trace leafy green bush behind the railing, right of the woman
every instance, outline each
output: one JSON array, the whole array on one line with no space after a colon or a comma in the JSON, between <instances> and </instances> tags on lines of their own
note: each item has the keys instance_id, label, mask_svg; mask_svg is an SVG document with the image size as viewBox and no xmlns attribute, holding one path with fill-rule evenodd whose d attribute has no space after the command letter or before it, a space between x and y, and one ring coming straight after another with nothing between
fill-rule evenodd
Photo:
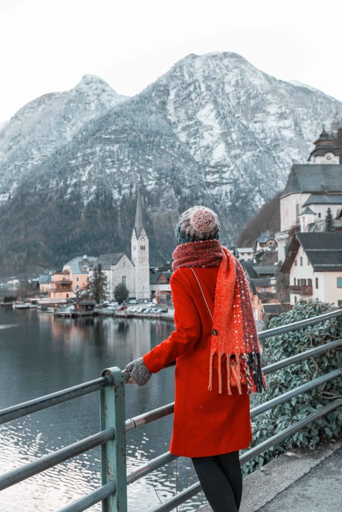
<instances>
[{"instance_id":1,"label":"leafy green bush behind the railing, right of the woman","mask_svg":"<svg viewBox=\"0 0 342 512\"><path fill-rule=\"evenodd\" d=\"M301 299L291 311L272 318L269 328L298 322L334 309L337 308L329 303L315 299ZM342 337L342 318L332 318L313 326L268 338L264 346L263 358L265 364L269 365L340 337ZM266 376L267 392L252 395L251 407L255 407L261 402L270 400L341 366L342 350L338 347L269 374ZM277 432L284 430L290 424L324 407L341 394L342 378L339 376L307 393L280 404L266 413L260 414L252 420L253 441L251 446L259 444ZM314 446L319 441L326 441L340 434L342 434L342 411L336 409L305 426L281 444L274 445L254 460L246 463L244 471L250 473L257 466L266 464L274 457L295 446Z\"/></svg>"}]
</instances>

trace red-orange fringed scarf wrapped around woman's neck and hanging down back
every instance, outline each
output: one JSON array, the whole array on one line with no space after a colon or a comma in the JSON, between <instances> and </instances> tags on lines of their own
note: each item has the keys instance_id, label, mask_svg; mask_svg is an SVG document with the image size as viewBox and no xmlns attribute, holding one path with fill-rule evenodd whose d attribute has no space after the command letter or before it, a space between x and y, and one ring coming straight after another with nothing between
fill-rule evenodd
<instances>
[{"instance_id":1,"label":"red-orange fringed scarf wrapped around woman's neck and hanging down back","mask_svg":"<svg viewBox=\"0 0 342 512\"><path fill-rule=\"evenodd\" d=\"M223 251L223 252L222 252ZM267 389L261 370L259 341L250 299L250 289L244 269L234 255L218 240L179 244L172 257L173 270L180 267L218 266L213 330L209 361L209 386L212 391L213 358L218 357L218 391L222 393L222 357L227 367L227 389L230 385L230 357L235 355L236 368L246 369L248 392L261 393ZM238 392L242 393L238 379Z\"/></svg>"}]
</instances>

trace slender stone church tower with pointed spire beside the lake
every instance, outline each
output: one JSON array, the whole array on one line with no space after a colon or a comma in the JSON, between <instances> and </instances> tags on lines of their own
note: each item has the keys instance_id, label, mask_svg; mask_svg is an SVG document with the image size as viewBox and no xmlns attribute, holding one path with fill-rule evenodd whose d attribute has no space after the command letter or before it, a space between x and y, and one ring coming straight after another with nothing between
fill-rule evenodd
<instances>
[{"instance_id":1,"label":"slender stone church tower with pointed spire beside the lake","mask_svg":"<svg viewBox=\"0 0 342 512\"><path fill-rule=\"evenodd\" d=\"M140 176L138 176L135 222L131 238L131 260L134 264L135 296L150 298L149 240L143 226L143 207Z\"/></svg>"}]
</instances>

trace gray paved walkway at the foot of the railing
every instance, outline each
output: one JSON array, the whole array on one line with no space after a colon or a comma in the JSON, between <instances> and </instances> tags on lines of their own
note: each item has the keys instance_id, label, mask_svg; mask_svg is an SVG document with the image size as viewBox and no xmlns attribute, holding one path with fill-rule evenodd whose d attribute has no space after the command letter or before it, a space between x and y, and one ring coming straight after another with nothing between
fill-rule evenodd
<instances>
[{"instance_id":1,"label":"gray paved walkway at the foot of the railing","mask_svg":"<svg viewBox=\"0 0 342 512\"><path fill-rule=\"evenodd\" d=\"M341 510L342 438L287 452L244 480L240 512ZM209 505L199 511L212 512Z\"/></svg>"}]
</instances>

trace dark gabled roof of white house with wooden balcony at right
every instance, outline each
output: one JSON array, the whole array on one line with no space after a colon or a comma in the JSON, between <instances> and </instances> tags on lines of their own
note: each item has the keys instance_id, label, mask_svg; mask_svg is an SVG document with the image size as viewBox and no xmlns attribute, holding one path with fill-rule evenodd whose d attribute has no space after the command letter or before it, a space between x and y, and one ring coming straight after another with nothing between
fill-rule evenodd
<instances>
[{"instance_id":1,"label":"dark gabled roof of white house with wooden balcony at right","mask_svg":"<svg viewBox=\"0 0 342 512\"><path fill-rule=\"evenodd\" d=\"M342 271L342 231L295 233L283 269L289 272L299 244L315 272Z\"/></svg>"}]
</instances>

